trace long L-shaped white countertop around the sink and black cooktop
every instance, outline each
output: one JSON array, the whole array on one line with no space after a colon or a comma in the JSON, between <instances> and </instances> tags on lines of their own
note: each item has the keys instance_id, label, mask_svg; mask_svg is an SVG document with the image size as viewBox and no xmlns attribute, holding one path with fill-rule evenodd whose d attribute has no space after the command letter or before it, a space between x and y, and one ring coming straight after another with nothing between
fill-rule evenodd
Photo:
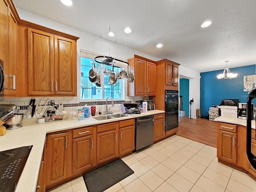
<instances>
[{"instance_id":1,"label":"long L-shaped white countertop around the sink and black cooktop","mask_svg":"<svg viewBox=\"0 0 256 192\"><path fill-rule=\"evenodd\" d=\"M54 122L45 122L42 124L37 124L36 118L24 119L22 121L22 128L7 130L7 133L4 136L0 136L0 151L18 148L21 146L33 145L15 192L34 192L36 190L37 178L40 169L42 153L44 150L46 133L68 130L82 126L90 126L95 124L126 120L130 118L154 115L159 113L164 113L164 111L149 110L147 113L143 114L128 115L126 117L100 121L90 116L89 118L85 118L84 121L69 119Z\"/></svg>"}]
</instances>

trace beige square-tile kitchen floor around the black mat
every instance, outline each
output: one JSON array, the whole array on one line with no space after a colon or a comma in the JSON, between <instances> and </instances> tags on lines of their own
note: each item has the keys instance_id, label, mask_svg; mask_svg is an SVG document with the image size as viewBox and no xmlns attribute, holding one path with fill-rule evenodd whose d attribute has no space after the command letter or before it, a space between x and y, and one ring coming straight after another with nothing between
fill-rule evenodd
<instances>
[{"instance_id":1,"label":"beige square-tile kitchen floor around the black mat","mask_svg":"<svg viewBox=\"0 0 256 192\"><path fill-rule=\"evenodd\" d=\"M218 163L216 148L172 136L122 160L134 174L106 192L256 192L256 181ZM51 192L87 192L82 177Z\"/></svg>"}]
</instances>

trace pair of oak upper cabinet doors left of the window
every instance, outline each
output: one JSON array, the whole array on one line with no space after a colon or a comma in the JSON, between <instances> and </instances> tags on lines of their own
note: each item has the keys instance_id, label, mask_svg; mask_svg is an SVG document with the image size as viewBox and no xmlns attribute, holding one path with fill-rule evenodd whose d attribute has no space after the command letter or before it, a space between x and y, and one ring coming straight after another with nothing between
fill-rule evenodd
<instances>
[{"instance_id":1,"label":"pair of oak upper cabinet doors left of the window","mask_svg":"<svg viewBox=\"0 0 256 192\"><path fill-rule=\"evenodd\" d=\"M28 94L76 96L76 42L28 28Z\"/></svg>"}]
</instances>

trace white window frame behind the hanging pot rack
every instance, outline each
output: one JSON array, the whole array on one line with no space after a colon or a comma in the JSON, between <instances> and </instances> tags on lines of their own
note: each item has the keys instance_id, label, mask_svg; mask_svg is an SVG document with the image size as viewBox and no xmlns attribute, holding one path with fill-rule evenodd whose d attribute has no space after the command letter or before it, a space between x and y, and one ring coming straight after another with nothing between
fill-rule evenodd
<instances>
[{"instance_id":1,"label":"white window frame behind the hanging pot rack","mask_svg":"<svg viewBox=\"0 0 256 192\"><path fill-rule=\"evenodd\" d=\"M81 70L81 66L82 66L81 58L89 58L89 59L93 59L94 60L94 58L96 56L105 56L105 55L80 49L80 55L79 55L79 58L80 58L80 68L79 68L80 84L79 85L82 84L81 83L81 75L80 75L81 72L82 72L82 70ZM104 70L104 68L105 68L105 65L102 65L102 70ZM105 78L106 78L106 76L104 75L104 79ZM94 83L92 83L92 85L94 85ZM79 90L80 90L80 92L79 92L80 93L79 94L79 100L80 100L80 102L105 101L106 99L104 99L104 96L105 96L105 91L107 90L107 89L105 89L105 84L103 84L103 86L101 88L102 88L102 94L101 94L102 98L99 98L99 99L92 99L92 98L86 99L86 98L83 98L82 99L81 98L82 90L81 90L81 87L79 86ZM124 100L125 99L125 80L124 79L120 80L120 90L121 90L121 93L122 93L121 98L113 98L113 100L118 101L118 100Z\"/></svg>"}]
</instances>

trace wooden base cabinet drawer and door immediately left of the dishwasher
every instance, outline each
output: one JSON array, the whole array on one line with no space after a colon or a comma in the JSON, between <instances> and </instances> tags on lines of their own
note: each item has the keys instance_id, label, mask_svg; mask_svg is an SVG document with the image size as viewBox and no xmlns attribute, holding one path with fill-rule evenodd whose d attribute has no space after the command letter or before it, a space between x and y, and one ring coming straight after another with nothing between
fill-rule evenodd
<instances>
[{"instance_id":1,"label":"wooden base cabinet drawer and door immediately left of the dishwasher","mask_svg":"<svg viewBox=\"0 0 256 192\"><path fill-rule=\"evenodd\" d=\"M135 144L134 119L119 122L119 156L132 152Z\"/></svg>"}]
</instances>

